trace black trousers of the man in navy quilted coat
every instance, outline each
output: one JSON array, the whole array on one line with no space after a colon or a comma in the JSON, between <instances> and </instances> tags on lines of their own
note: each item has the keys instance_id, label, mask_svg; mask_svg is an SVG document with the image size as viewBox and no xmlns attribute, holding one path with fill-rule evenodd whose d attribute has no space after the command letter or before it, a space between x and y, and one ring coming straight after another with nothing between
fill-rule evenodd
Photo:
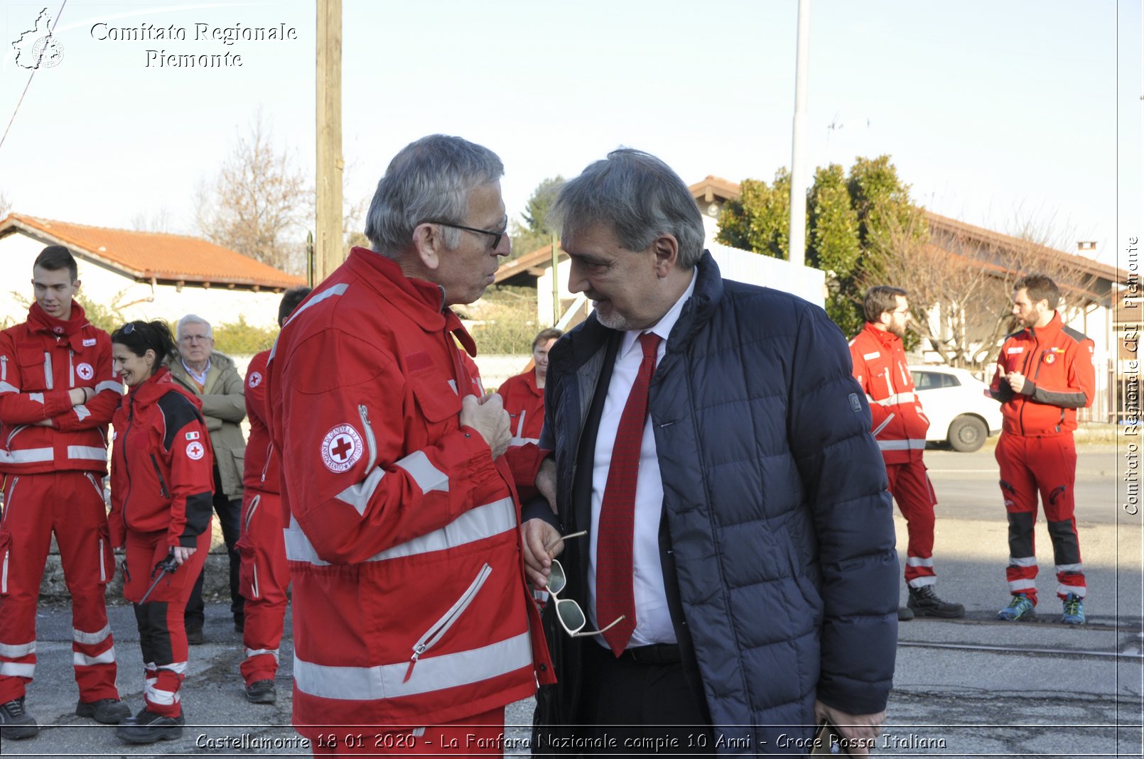
<instances>
[{"instance_id":1,"label":"black trousers of the man in navy quilted coat","mask_svg":"<svg viewBox=\"0 0 1144 759\"><path fill-rule=\"evenodd\" d=\"M617 658L587 640L580 693L579 721L593 746L586 753L678 757L715 752L713 730L677 661L635 661L628 653Z\"/></svg>"}]
</instances>

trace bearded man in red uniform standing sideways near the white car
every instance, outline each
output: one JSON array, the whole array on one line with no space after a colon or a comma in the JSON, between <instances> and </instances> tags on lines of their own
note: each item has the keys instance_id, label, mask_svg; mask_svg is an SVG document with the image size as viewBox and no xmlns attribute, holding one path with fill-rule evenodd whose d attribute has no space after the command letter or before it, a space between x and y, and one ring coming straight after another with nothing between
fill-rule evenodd
<instances>
[{"instance_id":1,"label":"bearded man in red uniform standing sideways near the white car","mask_svg":"<svg viewBox=\"0 0 1144 759\"><path fill-rule=\"evenodd\" d=\"M929 420L914 391L914 378L906 366L901 338L909 322L906 290L898 287L872 287L866 290L863 310L866 326L850 341L850 358L858 384L866 391L874 438L885 461L890 493L906 519L909 543L906 549L906 585L909 600L898 609L899 620L917 616L960 617L961 604L938 598L934 585L934 485L925 472L922 452Z\"/></svg>"}]
</instances>

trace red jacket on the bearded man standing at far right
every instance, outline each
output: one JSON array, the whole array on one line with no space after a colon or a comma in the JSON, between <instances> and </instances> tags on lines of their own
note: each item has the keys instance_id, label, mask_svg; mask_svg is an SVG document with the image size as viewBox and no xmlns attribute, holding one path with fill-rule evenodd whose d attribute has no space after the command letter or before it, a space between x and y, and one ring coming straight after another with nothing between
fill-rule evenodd
<instances>
[{"instance_id":1,"label":"red jacket on the bearded man standing at far right","mask_svg":"<svg viewBox=\"0 0 1144 759\"><path fill-rule=\"evenodd\" d=\"M1065 327L1060 314L1044 327L1030 327L1009 335L998 355L990 385L1001 401L1002 431L1010 434L1050 437L1077 429L1077 409L1093 404L1096 371L1093 341ZM1015 393L1004 378L1010 371L1025 376Z\"/></svg>"}]
</instances>

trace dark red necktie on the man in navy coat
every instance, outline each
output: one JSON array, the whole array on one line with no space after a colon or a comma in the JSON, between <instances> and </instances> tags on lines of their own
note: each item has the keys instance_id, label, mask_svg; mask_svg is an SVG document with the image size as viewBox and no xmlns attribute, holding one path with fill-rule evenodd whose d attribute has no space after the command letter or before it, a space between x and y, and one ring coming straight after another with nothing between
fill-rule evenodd
<instances>
[{"instance_id":1,"label":"dark red necktie on the man in navy coat","mask_svg":"<svg viewBox=\"0 0 1144 759\"><path fill-rule=\"evenodd\" d=\"M636 478L639 449L648 421L648 386L656 371L659 335L644 333L639 344L644 355L620 416L612 447L612 464L599 505L599 533L596 545L596 623L606 626L621 615L623 621L604 631L604 640L619 656L636 629L636 602L631 589L631 543L636 510Z\"/></svg>"}]
</instances>

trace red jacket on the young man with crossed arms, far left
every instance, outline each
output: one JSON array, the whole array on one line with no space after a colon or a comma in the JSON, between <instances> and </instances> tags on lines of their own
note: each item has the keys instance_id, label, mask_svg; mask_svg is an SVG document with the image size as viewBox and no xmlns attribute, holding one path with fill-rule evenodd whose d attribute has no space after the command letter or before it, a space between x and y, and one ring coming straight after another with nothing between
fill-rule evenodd
<instances>
[{"instance_id":1,"label":"red jacket on the young man with crossed arms, far left","mask_svg":"<svg viewBox=\"0 0 1144 759\"><path fill-rule=\"evenodd\" d=\"M69 391L95 397L72 406ZM27 321L0 331L0 473L108 471L108 423L124 383L111 369L111 338L72 301L69 321L33 303ZM50 420L50 426L37 424Z\"/></svg>"}]
</instances>

